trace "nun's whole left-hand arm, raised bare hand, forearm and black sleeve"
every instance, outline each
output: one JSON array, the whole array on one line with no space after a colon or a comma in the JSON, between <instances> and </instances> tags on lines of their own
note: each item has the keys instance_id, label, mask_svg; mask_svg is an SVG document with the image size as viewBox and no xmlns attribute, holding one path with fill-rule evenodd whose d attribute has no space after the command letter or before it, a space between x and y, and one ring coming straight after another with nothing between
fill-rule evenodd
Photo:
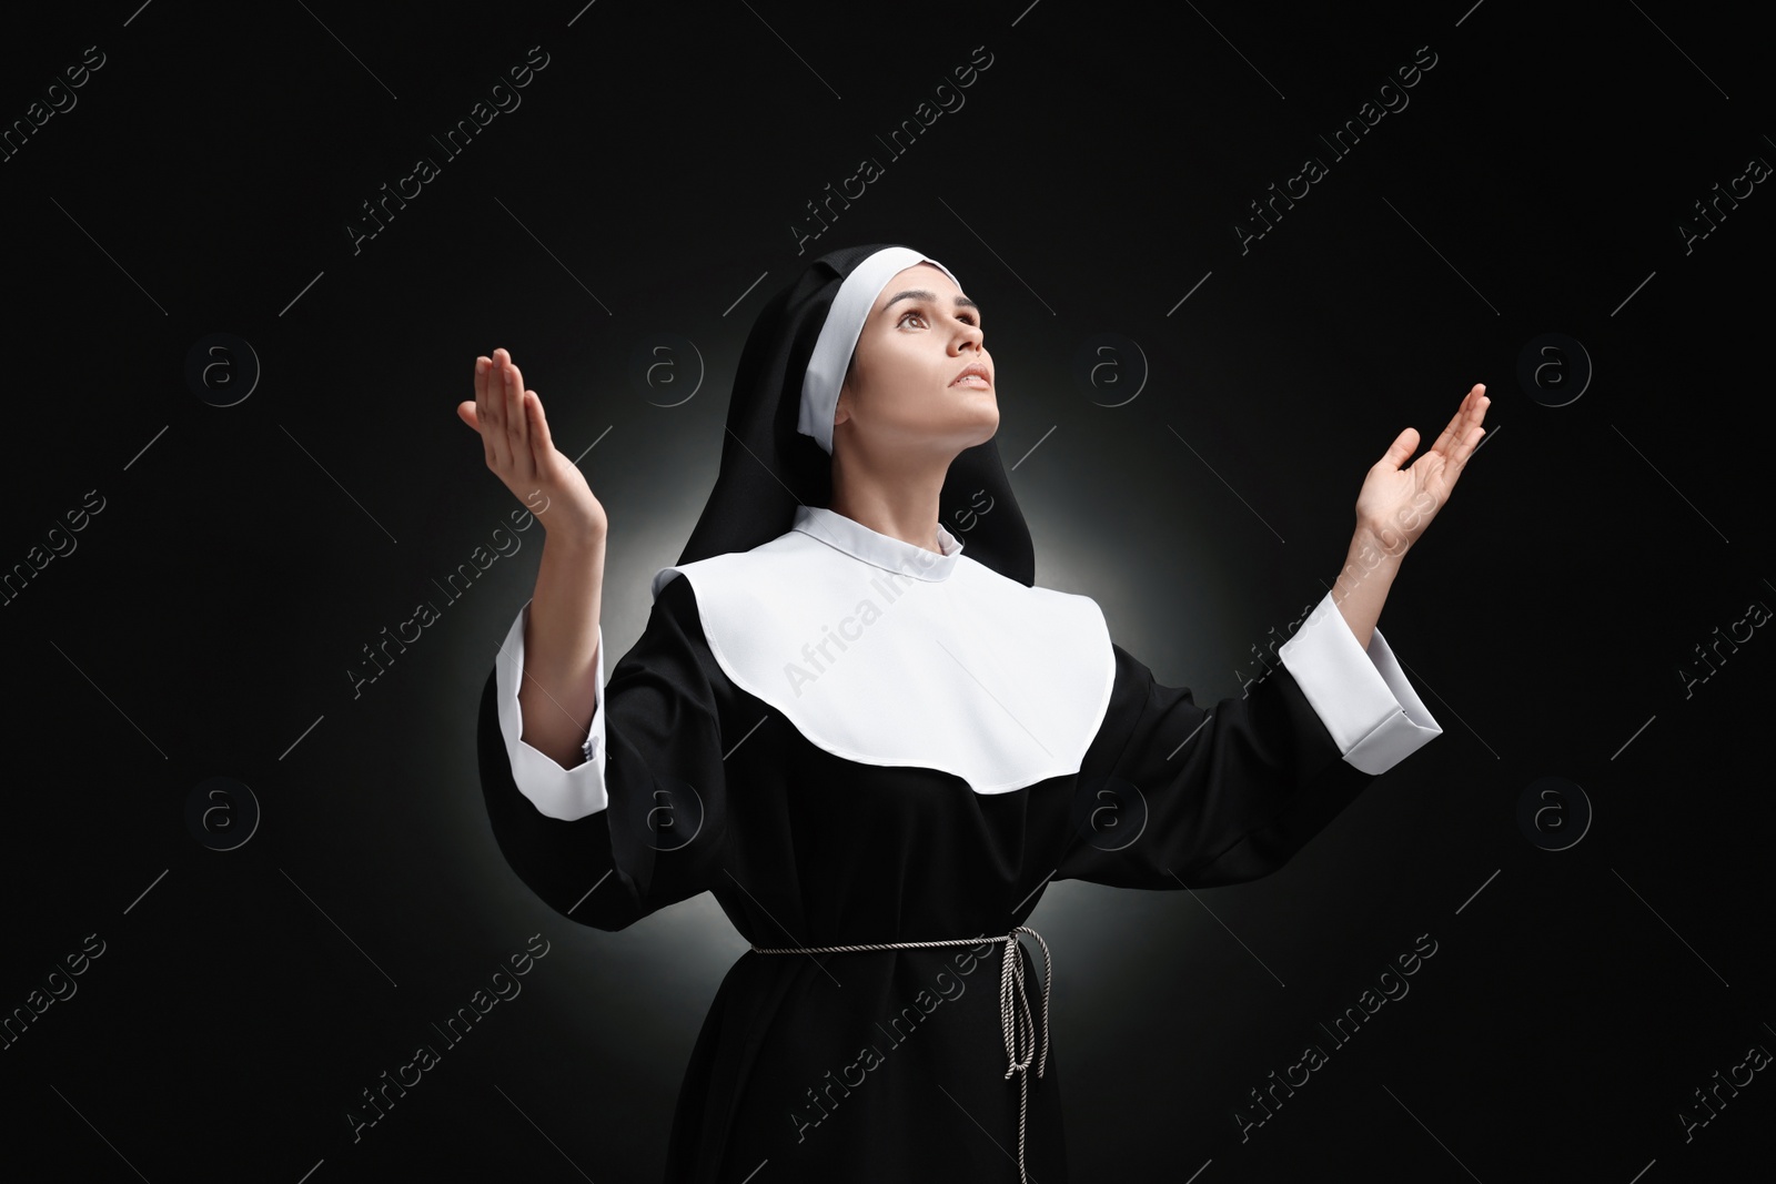
<instances>
[{"instance_id":1,"label":"nun's whole left-hand arm, raised bare hand, forearm and black sleeve","mask_svg":"<svg viewBox=\"0 0 1776 1184\"><path fill-rule=\"evenodd\" d=\"M678 579L606 687L604 508L551 444L542 399L504 350L476 359L474 401L456 414L543 524L536 595L506 630L476 724L494 840L551 909L618 930L709 889L726 866L721 671Z\"/></svg>"}]
</instances>

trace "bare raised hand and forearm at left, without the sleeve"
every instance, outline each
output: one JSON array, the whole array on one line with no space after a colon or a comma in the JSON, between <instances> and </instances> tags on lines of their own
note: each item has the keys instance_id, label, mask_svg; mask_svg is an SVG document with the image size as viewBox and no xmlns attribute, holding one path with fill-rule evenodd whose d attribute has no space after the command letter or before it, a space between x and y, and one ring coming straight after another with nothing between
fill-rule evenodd
<instances>
[{"instance_id":1,"label":"bare raised hand and forearm at left, without the sleeve","mask_svg":"<svg viewBox=\"0 0 1776 1184\"><path fill-rule=\"evenodd\" d=\"M474 360L474 401L456 414L481 435L487 467L543 524L536 593L526 607L524 742L563 769L584 762L597 710L604 506L549 435L543 403L506 350Z\"/></svg>"}]
</instances>

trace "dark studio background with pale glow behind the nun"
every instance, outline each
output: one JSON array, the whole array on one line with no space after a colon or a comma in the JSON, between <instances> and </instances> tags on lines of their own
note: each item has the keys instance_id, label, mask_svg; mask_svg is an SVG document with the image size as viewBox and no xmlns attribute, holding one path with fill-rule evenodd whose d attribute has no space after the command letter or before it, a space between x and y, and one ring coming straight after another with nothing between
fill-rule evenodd
<instances>
[{"instance_id":1,"label":"dark studio background with pale glow behind the nun","mask_svg":"<svg viewBox=\"0 0 1776 1184\"><path fill-rule=\"evenodd\" d=\"M1265 880L1064 882L1032 916L1073 1179L1653 1184L1767 1161L1769 1072L1691 1138L1678 1117L1776 1047L1776 641L1684 675L1776 604L1776 197L1756 185L1687 250L1678 229L1776 160L1748 11L44 7L5 18L7 126L87 46L105 64L0 163L0 566L78 543L0 604L0 1008L89 934L105 953L0 1051L9 1159L659 1177L744 943L709 896L574 925L499 857L472 722L542 533L460 602L433 593L517 508L453 408L510 348L609 511L620 655L709 493L751 318L812 254L904 241L984 309L1037 582L1094 596L1204 703L1336 579L1394 435L1428 446L1471 383L1492 396L1382 614L1444 735ZM428 137L531 46L522 105L446 158ZM991 64L941 92L964 105L890 154L877 137L977 46ZM1421 46L1410 103L1336 158L1318 135ZM439 176L353 249L419 154ZM1249 202L1307 154L1328 174L1241 250ZM863 156L883 176L797 254L806 202ZM1588 366L1568 350L1522 383L1550 332ZM210 334L258 359L231 407L238 346L186 378ZM650 389L654 334L694 353ZM1138 348L1108 391L1073 378L1098 334ZM89 490L103 509L52 534ZM353 696L362 646L424 598L442 618ZM263 809L233 850L186 822L215 776ZM1565 850L1518 825L1540 777L1593 811ZM1575 827L1577 795L1556 813ZM243 820L236 801L210 833ZM522 994L353 1141L361 1090L533 934ZM1437 953L1410 994L1334 1049L1320 1024L1419 935ZM1328 1063L1241 1140L1249 1090L1309 1042Z\"/></svg>"}]
</instances>

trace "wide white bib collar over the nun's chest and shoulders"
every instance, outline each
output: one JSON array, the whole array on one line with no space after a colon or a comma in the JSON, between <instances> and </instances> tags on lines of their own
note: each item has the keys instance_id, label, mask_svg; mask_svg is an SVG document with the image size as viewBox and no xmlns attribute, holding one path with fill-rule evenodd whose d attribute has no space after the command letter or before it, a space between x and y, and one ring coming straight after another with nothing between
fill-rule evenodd
<instances>
[{"instance_id":1,"label":"wide white bib collar over the nun's chest and shoulders","mask_svg":"<svg viewBox=\"0 0 1776 1184\"><path fill-rule=\"evenodd\" d=\"M835 756L977 793L1078 772L1115 682L1098 604L1025 588L941 525L938 545L801 506L753 550L661 568L654 596L687 577L723 673Z\"/></svg>"}]
</instances>

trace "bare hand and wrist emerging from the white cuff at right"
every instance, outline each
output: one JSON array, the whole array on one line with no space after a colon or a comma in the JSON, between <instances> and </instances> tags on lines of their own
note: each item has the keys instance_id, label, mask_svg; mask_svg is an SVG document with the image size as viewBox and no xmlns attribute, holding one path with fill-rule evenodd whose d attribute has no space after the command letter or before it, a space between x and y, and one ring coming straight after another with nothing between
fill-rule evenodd
<instances>
[{"instance_id":1,"label":"bare hand and wrist emerging from the white cuff at right","mask_svg":"<svg viewBox=\"0 0 1776 1184\"><path fill-rule=\"evenodd\" d=\"M1357 493L1357 533L1350 540L1344 570L1332 586L1332 602L1364 650L1369 648L1369 635L1382 616L1382 604L1399 573L1401 559L1449 501L1462 467L1487 435L1479 421L1487 417L1490 405L1487 387L1476 383L1449 426L1410 469L1399 465L1419 446L1417 428L1394 437L1387 454L1364 478Z\"/></svg>"}]
</instances>

